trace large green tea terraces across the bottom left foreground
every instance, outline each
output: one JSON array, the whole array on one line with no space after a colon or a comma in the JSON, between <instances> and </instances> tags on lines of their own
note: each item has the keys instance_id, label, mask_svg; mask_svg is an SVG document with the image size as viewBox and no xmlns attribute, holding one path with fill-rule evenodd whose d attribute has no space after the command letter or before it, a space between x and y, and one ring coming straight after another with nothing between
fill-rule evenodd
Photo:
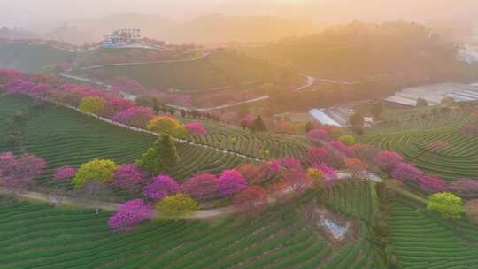
<instances>
[{"instance_id":1,"label":"large green tea terraces across the bottom left foreground","mask_svg":"<svg viewBox=\"0 0 478 269\"><path fill-rule=\"evenodd\" d=\"M293 205L256 219L162 221L112 233L107 213L0 201L2 268L374 268L366 229L332 250Z\"/></svg>"}]
</instances>

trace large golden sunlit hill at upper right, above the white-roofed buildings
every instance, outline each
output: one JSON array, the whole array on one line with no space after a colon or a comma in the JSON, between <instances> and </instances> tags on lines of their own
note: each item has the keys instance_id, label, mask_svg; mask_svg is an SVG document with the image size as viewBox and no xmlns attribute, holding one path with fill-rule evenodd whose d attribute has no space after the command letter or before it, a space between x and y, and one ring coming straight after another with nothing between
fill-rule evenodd
<instances>
[{"instance_id":1,"label":"large golden sunlit hill at upper right, above the white-roofed buildings","mask_svg":"<svg viewBox=\"0 0 478 269\"><path fill-rule=\"evenodd\" d=\"M463 66L457 47L412 22L353 22L320 34L288 38L265 46L245 47L254 58L345 81L408 77L411 81L452 80Z\"/></svg>"}]
</instances>

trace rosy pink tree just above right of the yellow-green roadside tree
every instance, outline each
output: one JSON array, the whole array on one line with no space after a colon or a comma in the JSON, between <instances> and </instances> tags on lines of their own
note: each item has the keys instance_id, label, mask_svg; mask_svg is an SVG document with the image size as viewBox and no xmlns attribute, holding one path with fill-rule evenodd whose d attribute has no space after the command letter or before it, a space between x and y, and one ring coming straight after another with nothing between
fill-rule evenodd
<instances>
[{"instance_id":1,"label":"rosy pink tree just above right of the yellow-green roadside tree","mask_svg":"<svg viewBox=\"0 0 478 269\"><path fill-rule=\"evenodd\" d=\"M197 201L207 201L219 196L218 179L212 173L199 173L181 185L181 191Z\"/></svg>"}]
</instances>

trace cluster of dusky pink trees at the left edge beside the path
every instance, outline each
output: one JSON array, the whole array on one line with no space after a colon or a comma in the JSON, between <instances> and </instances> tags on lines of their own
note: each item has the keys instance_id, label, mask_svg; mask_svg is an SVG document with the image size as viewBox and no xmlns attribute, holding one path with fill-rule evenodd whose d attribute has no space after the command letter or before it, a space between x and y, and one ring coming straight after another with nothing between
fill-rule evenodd
<instances>
[{"instance_id":1,"label":"cluster of dusky pink trees at the left edge beside the path","mask_svg":"<svg viewBox=\"0 0 478 269\"><path fill-rule=\"evenodd\" d=\"M0 183L10 188L27 188L42 175L46 162L31 154L15 157L12 152L0 155Z\"/></svg>"}]
</instances>

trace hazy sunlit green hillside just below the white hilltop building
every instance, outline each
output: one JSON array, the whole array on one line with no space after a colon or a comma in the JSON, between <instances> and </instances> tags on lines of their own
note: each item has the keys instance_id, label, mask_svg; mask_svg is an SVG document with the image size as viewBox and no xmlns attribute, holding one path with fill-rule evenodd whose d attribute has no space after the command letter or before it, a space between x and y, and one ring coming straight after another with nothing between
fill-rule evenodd
<instances>
[{"instance_id":1,"label":"hazy sunlit green hillside just below the white hilltop building","mask_svg":"<svg viewBox=\"0 0 478 269\"><path fill-rule=\"evenodd\" d=\"M127 76L147 88L200 90L250 81L270 81L276 69L231 51L215 51L192 62L122 65L102 68L110 76Z\"/></svg>"}]
</instances>

